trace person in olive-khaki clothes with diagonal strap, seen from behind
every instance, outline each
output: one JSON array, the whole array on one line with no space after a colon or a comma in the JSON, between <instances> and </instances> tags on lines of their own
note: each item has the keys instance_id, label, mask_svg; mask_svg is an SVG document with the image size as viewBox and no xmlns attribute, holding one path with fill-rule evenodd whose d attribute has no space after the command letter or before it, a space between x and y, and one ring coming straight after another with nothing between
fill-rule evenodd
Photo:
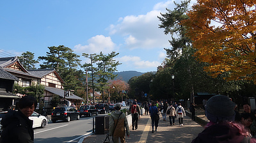
<instances>
[{"instance_id":1,"label":"person in olive-khaki clothes with diagonal strap, seen from behind","mask_svg":"<svg viewBox=\"0 0 256 143\"><path fill-rule=\"evenodd\" d=\"M126 135L129 137L129 124L127 118L123 112L120 111L120 103L115 104L115 112L111 113L109 117L109 136L112 136L113 142L118 143L119 139L123 143L125 142L125 130Z\"/></svg>"}]
</instances>

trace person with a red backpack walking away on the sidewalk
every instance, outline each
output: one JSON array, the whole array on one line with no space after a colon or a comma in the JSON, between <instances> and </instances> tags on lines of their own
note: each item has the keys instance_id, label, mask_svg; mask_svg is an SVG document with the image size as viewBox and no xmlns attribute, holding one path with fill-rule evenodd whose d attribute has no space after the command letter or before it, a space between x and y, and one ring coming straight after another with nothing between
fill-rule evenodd
<instances>
[{"instance_id":1,"label":"person with a red backpack walking away on the sidewalk","mask_svg":"<svg viewBox=\"0 0 256 143\"><path fill-rule=\"evenodd\" d=\"M132 103L131 107L130 107L130 111L132 114L132 130L137 130L138 128L138 119L140 117L140 106L137 105L136 100L134 100L135 102Z\"/></svg>"}]
</instances>

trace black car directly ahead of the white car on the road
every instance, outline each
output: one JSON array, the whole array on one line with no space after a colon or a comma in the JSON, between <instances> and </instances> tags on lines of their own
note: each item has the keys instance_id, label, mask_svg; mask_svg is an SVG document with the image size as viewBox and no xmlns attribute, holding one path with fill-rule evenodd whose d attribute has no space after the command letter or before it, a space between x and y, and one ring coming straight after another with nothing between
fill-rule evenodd
<instances>
[{"instance_id":1,"label":"black car directly ahead of the white car on the road","mask_svg":"<svg viewBox=\"0 0 256 143\"><path fill-rule=\"evenodd\" d=\"M80 114L74 107L56 107L52 111L52 123L56 123L57 120L69 122L72 119L80 119Z\"/></svg>"}]
</instances>

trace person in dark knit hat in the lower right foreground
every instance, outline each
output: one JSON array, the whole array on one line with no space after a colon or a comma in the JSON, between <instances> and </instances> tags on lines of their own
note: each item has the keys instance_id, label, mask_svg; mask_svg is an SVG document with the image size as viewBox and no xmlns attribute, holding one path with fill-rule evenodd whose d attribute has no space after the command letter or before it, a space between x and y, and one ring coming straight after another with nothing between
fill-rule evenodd
<instances>
[{"instance_id":1,"label":"person in dark knit hat in the lower right foreground","mask_svg":"<svg viewBox=\"0 0 256 143\"><path fill-rule=\"evenodd\" d=\"M241 123L234 122L236 104L227 96L212 96L206 103L205 112L210 122L192 143L256 142Z\"/></svg>"}]
</instances>

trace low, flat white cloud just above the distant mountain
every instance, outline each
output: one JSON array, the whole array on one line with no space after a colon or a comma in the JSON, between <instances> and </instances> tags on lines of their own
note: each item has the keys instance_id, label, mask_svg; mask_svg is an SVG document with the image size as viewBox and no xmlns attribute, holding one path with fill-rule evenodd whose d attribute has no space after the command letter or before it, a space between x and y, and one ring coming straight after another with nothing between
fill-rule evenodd
<instances>
[{"instance_id":1,"label":"low, flat white cloud just above the distant mountain","mask_svg":"<svg viewBox=\"0 0 256 143\"><path fill-rule=\"evenodd\" d=\"M137 56L123 56L117 59L120 61L120 63L123 63L125 65L129 65L130 67L133 68L156 68L159 66L161 63L158 61L142 61L140 57Z\"/></svg>"}]
</instances>

